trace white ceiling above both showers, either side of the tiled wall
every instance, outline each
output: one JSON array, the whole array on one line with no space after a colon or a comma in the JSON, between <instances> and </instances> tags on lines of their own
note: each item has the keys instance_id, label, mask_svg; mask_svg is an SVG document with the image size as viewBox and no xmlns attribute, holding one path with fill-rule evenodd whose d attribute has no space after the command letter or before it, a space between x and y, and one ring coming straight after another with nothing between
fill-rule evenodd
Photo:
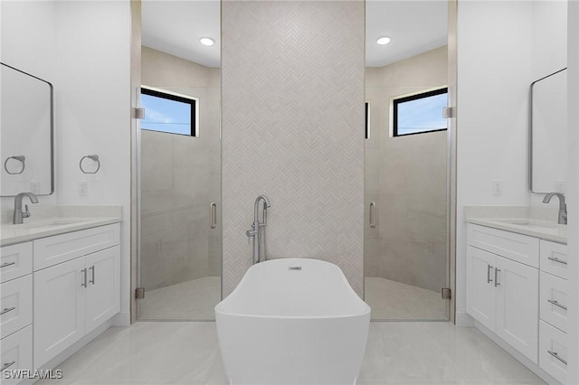
<instances>
[{"instance_id":1,"label":"white ceiling above both showers, either side of the tiled wall","mask_svg":"<svg viewBox=\"0 0 579 385\"><path fill-rule=\"evenodd\" d=\"M365 14L367 67L382 67L446 44L445 0L367 0ZM142 21L143 45L206 67L220 66L219 0L144 0ZM381 36L392 42L377 45ZM201 37L214 39L214 46L202 45Z\"/></svg>"}]
</instances>

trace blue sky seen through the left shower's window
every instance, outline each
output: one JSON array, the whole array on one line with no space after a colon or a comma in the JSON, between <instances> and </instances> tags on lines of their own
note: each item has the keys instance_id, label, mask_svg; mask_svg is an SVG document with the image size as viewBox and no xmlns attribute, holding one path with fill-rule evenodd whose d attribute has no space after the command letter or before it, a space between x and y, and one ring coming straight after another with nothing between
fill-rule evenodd
<instances>
[{"instance_id":1,"label":"blue sky seen through the left shower's window","mask_svg":"<svg viewBox=\"0 0 579 385\"><path fill-rule=\"evenodd\" d=\"M141 128L191 135L191 104L141 93L141 106L145 108Z\"/></svg>"}]
</instances>

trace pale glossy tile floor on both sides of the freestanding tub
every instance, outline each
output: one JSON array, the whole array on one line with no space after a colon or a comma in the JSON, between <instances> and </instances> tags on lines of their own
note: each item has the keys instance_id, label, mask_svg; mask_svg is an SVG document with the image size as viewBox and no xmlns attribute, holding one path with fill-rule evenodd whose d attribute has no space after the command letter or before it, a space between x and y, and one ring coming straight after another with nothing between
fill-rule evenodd
<instances>
[{"instance_id":1,"label":"pale glossy tile floor on both sides of the freestanding tub","mask_svg":"<svg viewBox=\"0 0 579 385\"><path fill-rule=\"evenodd\" d=\"M113 327L39 385L227 384L213 322ZM449 323L370 324L358 385L544 384L474 328Z\"/></svg>"}]
</instances>

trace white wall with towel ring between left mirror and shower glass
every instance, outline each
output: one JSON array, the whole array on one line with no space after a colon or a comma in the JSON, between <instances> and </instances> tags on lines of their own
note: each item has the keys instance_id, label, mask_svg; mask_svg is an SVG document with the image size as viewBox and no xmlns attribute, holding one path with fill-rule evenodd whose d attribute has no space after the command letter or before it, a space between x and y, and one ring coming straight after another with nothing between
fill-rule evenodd
<instances>
[{"instance_id":1,"label":"white wall with towel ring between left mirror and shower glass","mask_svg":"<svg viewBox=\"0 0 579 385\"><path fill-rule=\"evenodd\" d=\"M130 4L57 2L56 167L60 205L123 206L121 314L130 300ZM83 155L98 154L98 174L82 174ZM78 183L87 181L87 196Z\"/></svg>"}]
</instances>

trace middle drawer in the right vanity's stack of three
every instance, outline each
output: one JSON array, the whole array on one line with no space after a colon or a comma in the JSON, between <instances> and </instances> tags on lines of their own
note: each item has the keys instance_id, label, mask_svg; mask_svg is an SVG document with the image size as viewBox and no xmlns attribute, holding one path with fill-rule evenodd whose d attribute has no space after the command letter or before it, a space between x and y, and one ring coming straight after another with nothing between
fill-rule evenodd
<instances>
[{"instance_id":1,"label":"middle drawer in the right vanity's stack of three","mask_svg":"<svg viewBox=\"0 0 579 385\"><path fill-rule=\"evenodd\" d=\"M567 332L567 280L541 271L541 319Z\"/></svg>"}]
</instances>

